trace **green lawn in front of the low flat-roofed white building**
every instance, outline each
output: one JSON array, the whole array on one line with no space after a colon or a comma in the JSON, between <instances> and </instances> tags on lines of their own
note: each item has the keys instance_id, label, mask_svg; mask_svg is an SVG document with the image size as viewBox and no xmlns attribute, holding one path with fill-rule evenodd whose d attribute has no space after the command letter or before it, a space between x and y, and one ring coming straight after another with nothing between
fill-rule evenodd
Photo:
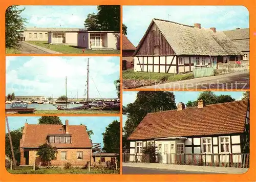
<instances>
[{"instance_id":1,"label":"green lawn in front of the low flat-roofed white building","mask_svg":"<svg viewBox=\"0 0 256 182\"><path fill-rule=\"evenodd\" d=\"M26 41L38 45L43 48L47 48L53 51L57 51L63 54L82 54L83 48L77 48L73 45L60 45L52 44L50 45L47 41ZM120 50L87 50L84 49L84 54L120 54Z\"/></svg>"}]
</instances>

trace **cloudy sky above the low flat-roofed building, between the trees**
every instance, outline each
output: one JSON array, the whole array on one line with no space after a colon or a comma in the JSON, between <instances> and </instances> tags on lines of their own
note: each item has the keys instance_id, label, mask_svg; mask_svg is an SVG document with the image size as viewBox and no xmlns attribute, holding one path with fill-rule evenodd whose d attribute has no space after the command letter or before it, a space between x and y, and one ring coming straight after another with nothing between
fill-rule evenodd
<instances>
[{"instance_id":1,"label":"cloudy sky above the low flat-roofed building, between the trees","mask_svg":"<svg viewBox=\"0 0 256 182\"><path fill-rule=\"evenodd\" d=\"M27 27L83 28L89 13L97 14L97 6L19 6Z\"/></svg>"}]
</instances>

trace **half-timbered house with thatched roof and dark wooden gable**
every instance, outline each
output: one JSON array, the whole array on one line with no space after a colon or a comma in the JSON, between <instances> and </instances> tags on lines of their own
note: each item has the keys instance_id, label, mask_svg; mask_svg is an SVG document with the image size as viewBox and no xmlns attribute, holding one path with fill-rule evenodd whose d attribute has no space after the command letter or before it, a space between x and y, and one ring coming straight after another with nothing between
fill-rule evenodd
<instances>
[{"instance_id":1,"label":"half-timbered house with thatched roof and dark wooden gable","mask_svg":"<svg viewBox=\"0 0 256 182\"><path fill-rule=\"evenodd\" d=\"M216 28L154 18L134 52L135 72L186 73L234 64L243 53Z\"/></svg>"}]
</instances>

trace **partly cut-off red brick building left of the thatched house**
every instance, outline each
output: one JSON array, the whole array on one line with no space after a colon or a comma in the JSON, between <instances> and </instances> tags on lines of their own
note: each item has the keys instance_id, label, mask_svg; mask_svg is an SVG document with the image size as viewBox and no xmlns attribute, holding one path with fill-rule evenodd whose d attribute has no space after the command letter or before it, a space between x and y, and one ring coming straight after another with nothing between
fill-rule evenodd
<instances>
[{"instance_id":1,"label":"partly cut-off red brick building left of the thatched house","mask_svg":"<svg viewBox=\"0 0 256 182\"><path fill-rule=\"evenodd\" d=\"M133 43L122 34L122 62L123 70L132 69L134 67L134 58L133 53L136 50L136 47Z\"/></svg>"}]
</instances>

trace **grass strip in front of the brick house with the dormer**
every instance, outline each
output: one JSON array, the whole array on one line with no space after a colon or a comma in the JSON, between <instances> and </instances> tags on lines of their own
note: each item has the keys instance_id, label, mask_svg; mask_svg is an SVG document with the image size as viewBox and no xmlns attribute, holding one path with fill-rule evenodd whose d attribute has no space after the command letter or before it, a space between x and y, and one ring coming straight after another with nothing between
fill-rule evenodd
<instances>
[{"instance_id":1,"label":"grass strip in front of the brick house with the dormer","mask_svg":"<svg viewBox=\"0 0 256 182\"><path fill-rule=\"evenodd\" d=\"M7 169L11 174L120 174L119 170L109 170L109 169L91 169L89 172L88 169L81 168L71 168L71 169L62 169L61 168L39 168L33 171L33 167L17 167L16 170Z\"/></svg>"}]
</instances>

